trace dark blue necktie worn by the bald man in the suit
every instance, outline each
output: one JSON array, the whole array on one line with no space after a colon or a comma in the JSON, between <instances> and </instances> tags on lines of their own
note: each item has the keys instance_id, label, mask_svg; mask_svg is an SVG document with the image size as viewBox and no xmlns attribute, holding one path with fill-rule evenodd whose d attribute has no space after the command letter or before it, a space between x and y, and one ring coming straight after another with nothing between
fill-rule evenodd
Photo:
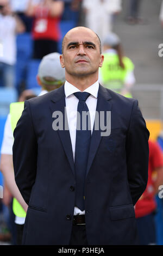
<instances>
[{"instance_id":1,"label":"dark blue necktie worn by the bald man in the suit","mask_svg":"<svg viewBox=\"0 0 163 256\"><path fill-rule=\"evenodd\" d=\"M77 109L77 131L76 131L76 150L74 167L76 173L76 206L83 211L84 204L84 187L86 177L87 158L91 142L91 124L90 113L85 103L90 93L78 92L74 95L79 99ZM83 113L83 114L82 114Z\"/></svg>"}]
</instances>

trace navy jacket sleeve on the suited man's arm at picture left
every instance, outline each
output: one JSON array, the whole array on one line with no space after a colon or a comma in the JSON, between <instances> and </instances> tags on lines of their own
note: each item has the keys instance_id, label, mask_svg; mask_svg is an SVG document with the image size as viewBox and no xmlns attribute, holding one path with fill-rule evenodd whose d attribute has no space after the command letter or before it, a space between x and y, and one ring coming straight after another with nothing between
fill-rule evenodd
<instances>
[{"instance_id":1,"label":"navy jacket sleeve on the suited man's arm at picture left","mask_svg":"<svg viewBox=\"0 0 163 256\"><path fill-rule=\"evenodd\" d=\"M37 166L37 140L28 101L14 130L12 147L15 181L23 199L29 204Z\"/></svg>"}]
</instances>

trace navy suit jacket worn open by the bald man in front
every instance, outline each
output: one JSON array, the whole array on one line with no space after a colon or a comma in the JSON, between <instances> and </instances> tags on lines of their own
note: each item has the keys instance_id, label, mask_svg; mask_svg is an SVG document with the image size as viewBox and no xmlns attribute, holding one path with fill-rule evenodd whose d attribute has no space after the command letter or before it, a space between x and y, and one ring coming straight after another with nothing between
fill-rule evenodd
<instances>
[{"instance_id":1,"label":"navy suit jacket worn open by the bald man in front","mask_svg":"<svg viewBox=\"0 0 163 256\"><path fill-rule=\"evenodd\" d=\"M89 245L135 245L134 205L147 185L149 132L137 100L101 85L96 110L111 111L111 134L102 137L100 129L92 133L85 182L87 241ZM15 180L29 205L23 245L70 242L74 162L70 132L52 129L54 111L65 118L64 85L25 101L14 131Z\"/></svg>"}]
</instances>

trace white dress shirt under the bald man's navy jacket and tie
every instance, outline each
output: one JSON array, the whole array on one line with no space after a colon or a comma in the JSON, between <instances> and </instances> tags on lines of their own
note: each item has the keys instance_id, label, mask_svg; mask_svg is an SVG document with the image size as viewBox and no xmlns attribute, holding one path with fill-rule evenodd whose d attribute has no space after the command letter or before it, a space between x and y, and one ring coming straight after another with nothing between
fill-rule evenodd
<instances>
[{"instance_id":1,"label":"white dress shirt under the bald man's navy jacket and tie","mask_svg":"<svg viewBox=\"0 0 163 256\"><path fill-rule=\"evenodd\" d=\"M90 96L86 100L86 105L89 108L90 119L91 119L91 132L93 130L93 124L95 121L96 106L97 106L97 94L98 94L99 83L98 81L92 86L86 88L84 92L90 93ZM76 148L76 127L77 127L77 108L78 102L76 96L73 93L80 92L80 90L74 87L72 84L65 82L65 101L66 101L66 112L68 119L68 128L70 131L71 144L73 159ZM85 214L85 211L80 211L77 207L74 208L74 215Z\"/></svg>"}]
</instances>

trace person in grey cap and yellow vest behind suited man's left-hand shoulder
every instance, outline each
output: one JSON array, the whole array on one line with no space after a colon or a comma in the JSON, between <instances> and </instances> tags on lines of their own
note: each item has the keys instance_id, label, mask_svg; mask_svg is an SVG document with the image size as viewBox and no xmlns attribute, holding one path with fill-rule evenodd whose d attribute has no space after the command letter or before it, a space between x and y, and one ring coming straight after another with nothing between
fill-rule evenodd
<instances>
[{"instance_id":1,"label":"person in grey cap and yellow vest behind suited man's left-hand shoulder","mask_svg":"<svg viewBox=\"0 0 163 256\"><path fill-rule=\"evenodd\" d=\"M38 84L41 86L41 93L38 96L59 88L65 82L65 69L61 68L59 57L59 53L50 53L42 58L36 77ZM4 129L0 167L4 175L5 183L14 197L12 209L16 216L17 245L21 245L23 226L28 209L28 205L24 202L20 191L18 191L12 164L13 132L24 108L24 102L21 101L21 98L19 101L20 102L10 104L10 114L8 115Z\"/></svg>"}]
</instances>

